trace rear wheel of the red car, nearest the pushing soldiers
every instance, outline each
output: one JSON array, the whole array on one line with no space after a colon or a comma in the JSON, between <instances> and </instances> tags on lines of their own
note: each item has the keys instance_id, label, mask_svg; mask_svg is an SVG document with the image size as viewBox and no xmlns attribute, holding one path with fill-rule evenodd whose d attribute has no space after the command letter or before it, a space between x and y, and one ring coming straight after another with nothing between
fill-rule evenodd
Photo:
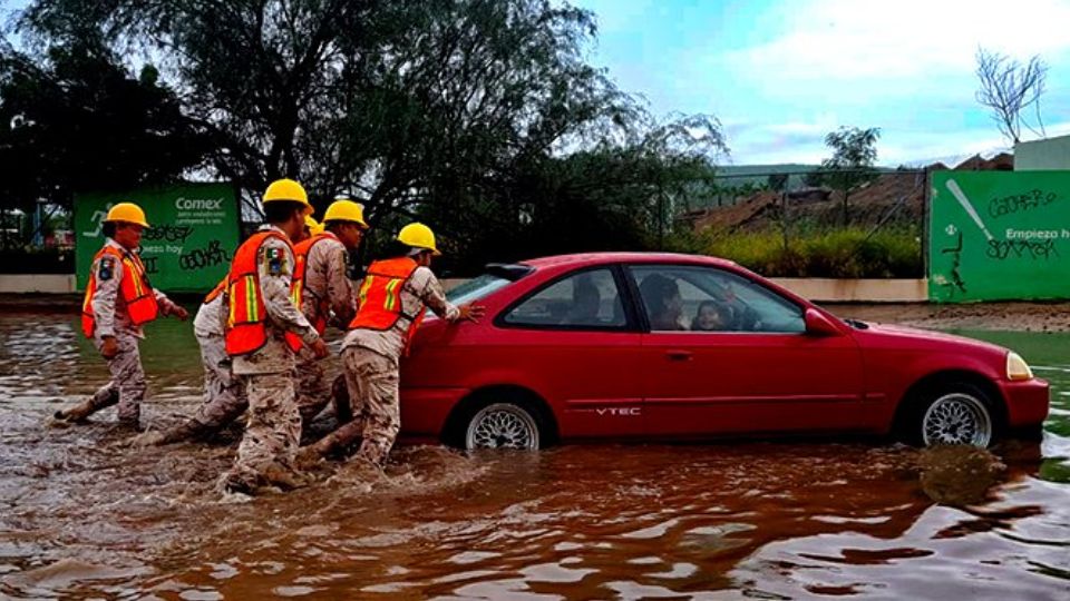
<instances>
[{"instance_id":1,"label":"rear wheel of the red car, nearest the pushing soldiers","mask_svg":"<svg viewBox=\"0 0 1070 601\"><path fill-rule=\"evenodd\" d=\"M480 403L465 424L463 446L536 451L544 444L542 414L527 400L503 395Z\"/></svg>"}]
</instances>

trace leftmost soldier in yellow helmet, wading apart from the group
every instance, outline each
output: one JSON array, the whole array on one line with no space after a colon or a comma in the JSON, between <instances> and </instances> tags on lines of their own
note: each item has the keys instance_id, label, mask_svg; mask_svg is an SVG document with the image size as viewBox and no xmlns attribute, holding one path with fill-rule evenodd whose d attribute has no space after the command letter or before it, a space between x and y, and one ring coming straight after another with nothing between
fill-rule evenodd
<instances>
[{"instance_id":1,"label":"leftmost soldier in yellow helmet, wading apart from the group","mask_svg":"<svg viewBox=\"0 0 1070 601\"><path fill-rule=\"evenodd\" d=\"M139 427L145 397L145 371L138 341L142 325L157 315L188 317L186 309L154 289L136 250L148 227L145 211L133 203L111 207L104 220L107 242L94 258L82 303L82 333L93 339L108 362L111 380L87 401L56 412L57 423L80 422L105 407L118 404L119 423Z\"/></svg>"}]
</instances>

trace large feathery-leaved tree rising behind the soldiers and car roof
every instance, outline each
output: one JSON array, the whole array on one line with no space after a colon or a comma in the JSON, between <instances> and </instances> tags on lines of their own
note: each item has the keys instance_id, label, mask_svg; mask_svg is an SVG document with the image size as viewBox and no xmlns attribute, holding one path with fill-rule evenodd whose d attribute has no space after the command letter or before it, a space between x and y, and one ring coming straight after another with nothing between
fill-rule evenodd
<instances>
[{"instance_id":1,"label":"large feathery-leaved tree rising behind the soldiers and car roof","mask_svg":"<svg viewBox=\"0 0 1070 601\"><path fill-rule=\"evenodd\" d=\"M653 245L726 151L714 118L654 119L587 65L594 16L557 0L36 0L20 22L158 58L247 200L346 190L372 244L420 217L471 264L581 223L575 250Z\"/></svg>"}]
</instances>

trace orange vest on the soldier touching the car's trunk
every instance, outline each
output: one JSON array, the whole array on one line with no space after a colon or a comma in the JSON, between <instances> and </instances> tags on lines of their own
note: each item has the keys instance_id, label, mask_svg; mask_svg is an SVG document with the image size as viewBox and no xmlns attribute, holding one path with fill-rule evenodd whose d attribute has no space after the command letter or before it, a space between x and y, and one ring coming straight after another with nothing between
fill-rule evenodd
<instances>
[{"instance_id":1,"label":"orange vest on the soldier touching the car's trunk","mask_svg":"<svg viewBox=\"0 0 1070 601\"><path fill-rule=\"evenodd\" d=\"M368 267L364 282L357 294L357 316L350 322L349 328L374 329L386 332L392 328L399 319L409 321L409 329L405 334L405 347L409 343L424 321L427 307L421 307L416 315L407 315L401 311L401 288L412 277L412 272L419 267L409 257L398 257L377 260Z\"/></svg>"}]
</instances>

